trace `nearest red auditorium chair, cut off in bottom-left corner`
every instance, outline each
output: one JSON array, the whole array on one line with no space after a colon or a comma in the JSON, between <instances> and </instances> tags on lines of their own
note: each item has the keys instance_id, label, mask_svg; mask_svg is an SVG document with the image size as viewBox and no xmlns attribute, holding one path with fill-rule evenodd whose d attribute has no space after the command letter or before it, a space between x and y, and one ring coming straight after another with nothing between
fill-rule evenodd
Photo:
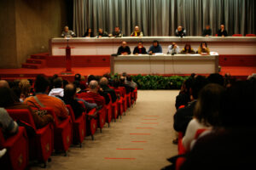
<instances>
[{"instance_id":1,"label":"nearest red auditorium chair, cut off in bottom-left corner","mask_svg":"<svg viewBox=\"0 0 256 170\"><path fill-rule=\"evenodd\" d=\"M0 157L1 169L23 170L28 165L28 139L25 127L19 127L18 133L4 139L0 128L0 150L5 148L7 152Z\"/></svg>"}]
</instances>

